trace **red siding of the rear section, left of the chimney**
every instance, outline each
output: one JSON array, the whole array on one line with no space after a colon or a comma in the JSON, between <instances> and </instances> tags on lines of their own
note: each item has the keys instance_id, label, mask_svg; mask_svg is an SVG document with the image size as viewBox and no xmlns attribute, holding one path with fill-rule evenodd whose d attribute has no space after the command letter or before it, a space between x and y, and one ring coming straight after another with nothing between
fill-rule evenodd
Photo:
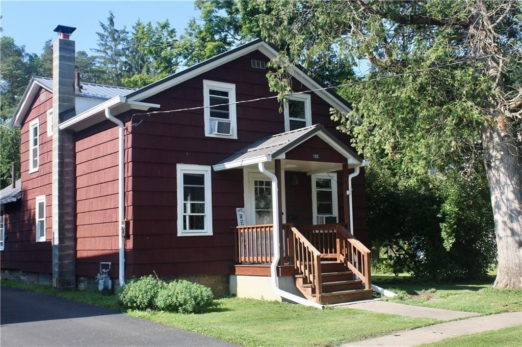
<instances>
[{"instance_id":1,"label":"red siding of the rear section, left of the chimney","mask_svg":"<svg viewBox=\"0 0 522 347\"><path fill-rule=\"evenodd\" d=\"M45 92L45 98L40 95ZM27 272L52 271L52 136L47 135L47 111L53 107L52 93L40 89L20 129L22 199L5 206L5 247L0 252L2 268ZM29 123L38 119L39 169L29 173ZM45 242L36 242L35 197L45 195Z\"/></svg>"}]
</instances>

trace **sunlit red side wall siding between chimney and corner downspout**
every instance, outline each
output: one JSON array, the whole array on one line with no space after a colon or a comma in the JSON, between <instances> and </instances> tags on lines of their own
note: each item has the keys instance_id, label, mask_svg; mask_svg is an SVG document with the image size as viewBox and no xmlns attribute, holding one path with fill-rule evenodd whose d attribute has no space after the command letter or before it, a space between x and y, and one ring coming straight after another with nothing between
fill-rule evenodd
<instances>
[{"instance_id":1,"label":"sunlit red side wall siding between chimney and corner downspout","mask_svg":"<svg viewBox=\"0 0 522 347\"><path fill-rule=\"evenodd\" d=\"M118 276L118 132L105 121L76 134L76 274Z\"/></svg>"}]
</instances>

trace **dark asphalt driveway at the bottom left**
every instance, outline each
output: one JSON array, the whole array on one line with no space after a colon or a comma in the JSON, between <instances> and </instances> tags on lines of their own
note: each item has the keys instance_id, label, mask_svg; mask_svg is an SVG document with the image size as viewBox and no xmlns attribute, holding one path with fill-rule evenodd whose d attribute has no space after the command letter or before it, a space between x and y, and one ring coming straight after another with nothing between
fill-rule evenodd
<instances>
[{"instance_id":1,"label":"dark asphalt driveway at the bottom left","mask_svg":"<svg viewBox=\"0 0 522 347\"><path fill-rule=\"evenodd\" d=\"M2 346L229 346L110 309L0 287Z\"/></svg>"}]
</instances>

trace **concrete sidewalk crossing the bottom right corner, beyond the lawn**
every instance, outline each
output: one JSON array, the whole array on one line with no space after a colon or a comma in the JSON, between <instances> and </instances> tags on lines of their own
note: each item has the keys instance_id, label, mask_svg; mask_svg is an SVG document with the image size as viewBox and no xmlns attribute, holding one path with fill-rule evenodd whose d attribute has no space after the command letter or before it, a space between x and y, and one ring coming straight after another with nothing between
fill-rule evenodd
<instances>
[{"instance_id":1,"label":"concrete sidewalk crossing the bottom right corner, beyond the lawn","mask_svg":"<svg viewBox=\"0 0 522 347\"><path fill-rule=\"evenodd\" d=\"M522 324L522 312L501 313L491 316L471 317L448 321L429 327L399 331L386 336L364 341L351 342L348 346L417 346L433 343L447 338L498 330Z\"/></svg>"}]
</instances>

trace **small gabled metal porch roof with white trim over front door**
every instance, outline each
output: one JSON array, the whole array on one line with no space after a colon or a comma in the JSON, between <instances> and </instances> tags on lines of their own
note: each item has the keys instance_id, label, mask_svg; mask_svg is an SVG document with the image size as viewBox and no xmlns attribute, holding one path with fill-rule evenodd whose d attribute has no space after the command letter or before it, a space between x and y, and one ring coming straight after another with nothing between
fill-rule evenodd
<instances>
[{"instance_id":1,"label":"small gabled metal porch roof with white trim over front door","mask_svg":"<svg viewBox=\"0 0 522 347\"><path fill-rule=\"evenodd\" d=\"M284 159L284 154L314 136L318 136L334 148L334 150L346 157L348 164L352 164L353 166L363 165L363 159L360 156L334 137L323 125L316 124L260 139L214 165L213 169L215 171L221 171L257 163L271 162L272 159Z\"/></svg>"}]
</instances>

